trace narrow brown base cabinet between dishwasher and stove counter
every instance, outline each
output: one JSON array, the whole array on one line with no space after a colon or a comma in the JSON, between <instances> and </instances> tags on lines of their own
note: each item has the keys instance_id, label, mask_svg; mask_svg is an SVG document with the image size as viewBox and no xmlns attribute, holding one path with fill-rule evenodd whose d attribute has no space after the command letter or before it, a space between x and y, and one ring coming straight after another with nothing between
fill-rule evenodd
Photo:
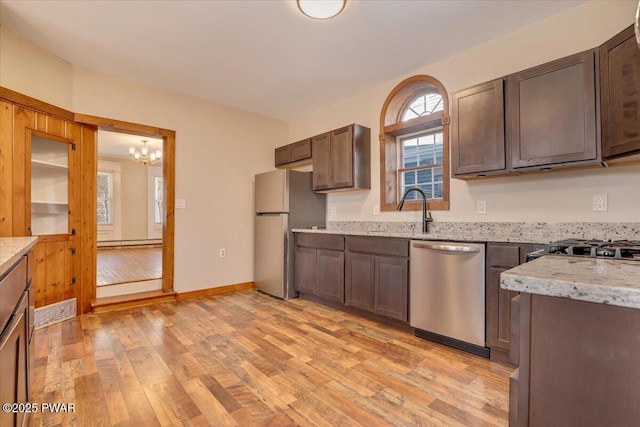
<instances>
[{"instance_id":1,"label":"narrow brown base cabinet between dishwasher and stove counter","mask_svg":"<svg viewBox=\"0 0 640 427\"><path fill-rule=\"evenodd\" d=\"M512 299L519 292L500 287L500 273L517 267L534 250L528 243L488 243L486 266L487 347L492 360L510 359ZM514 327L517 325L514 325ZM517 362L517 361L512 361ZM517 363L516 363L517 364Z\"/></svg>"}]
</instances>

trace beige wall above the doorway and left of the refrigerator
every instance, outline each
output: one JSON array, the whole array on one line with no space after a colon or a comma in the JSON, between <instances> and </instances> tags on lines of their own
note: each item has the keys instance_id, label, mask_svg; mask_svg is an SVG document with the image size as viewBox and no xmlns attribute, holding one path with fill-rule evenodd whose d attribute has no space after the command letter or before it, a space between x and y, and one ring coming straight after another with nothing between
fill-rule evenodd
<instances>
[{"instance_id":1,"label":"beige wall above the doorway and left of the refrigerator","mask_svg":"<svg viewBox=\"0 0 640 427\"><path fill-rule=\"evenodd\" d=\"M287 123L70 66L4 29L2 36L2 86L77 113L176 131L176 197L187 205L175 216L176 291L253 280L253 177L273 169ZM34 64L55 78L22 78Z\"/></svg>"}]
</instances>

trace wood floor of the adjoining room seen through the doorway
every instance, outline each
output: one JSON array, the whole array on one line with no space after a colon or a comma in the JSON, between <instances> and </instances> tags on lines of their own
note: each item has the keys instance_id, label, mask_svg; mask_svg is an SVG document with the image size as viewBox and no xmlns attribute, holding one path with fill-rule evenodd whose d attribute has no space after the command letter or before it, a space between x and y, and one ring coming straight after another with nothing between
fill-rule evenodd
<instances>
[{"instance_id":1,"label":"wood floor of the adjoining room seen through the doorway","mask_svg":"<svg viewBox=\"0 0 640 427\"><path fill-rule=\"evenodd\" d=\"M98 286L160 278L162 248L98 250Z\"/></svg>"}]
</instances>

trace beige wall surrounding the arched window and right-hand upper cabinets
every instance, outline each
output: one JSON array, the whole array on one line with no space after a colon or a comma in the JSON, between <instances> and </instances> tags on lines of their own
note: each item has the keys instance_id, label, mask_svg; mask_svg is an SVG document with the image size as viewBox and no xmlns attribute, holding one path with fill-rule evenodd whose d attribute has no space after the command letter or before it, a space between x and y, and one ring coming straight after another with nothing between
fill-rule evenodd
<instances>
[{"instance_id":1,"label":"beige wall surrounding the arched window and right-hand upper cabinets","mask_svg":"<svg viewBox=\"0 0 640 427\"><path fill-rule=\"evenodd\" d=\"M379 117L393 87L414 74L439 79L449 92L482 83L537 64L596 47L633 22L637 1L589 2L539 21L499 39L438 63L408 72L383 85L291 123L289 141L349 123L371 128L372 189L329 195L337 215L328 220L409 221L419 212L383 212L380 203ZM436 211L436 221L638 221L640 166L562 171L480 181L451 181L451 209ZM594 194L608 194L609 211L592 212ZM487 201L487 214L475 213L475 202ZM328 210L329 211L329 210Z\"/></svg>"}]
</instances>

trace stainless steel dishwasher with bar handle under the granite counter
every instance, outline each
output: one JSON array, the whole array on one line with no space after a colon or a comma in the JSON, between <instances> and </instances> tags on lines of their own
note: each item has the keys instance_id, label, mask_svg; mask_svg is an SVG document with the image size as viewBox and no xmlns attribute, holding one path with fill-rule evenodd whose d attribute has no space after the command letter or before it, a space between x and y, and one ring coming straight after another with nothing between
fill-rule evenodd
<instances>
[{"instance_id":1,"label":"stainless steel dishwasher with bar handle under the granite counter","mask_svg":"<svg viewBox=\"0 0 640 427\"><path fill-rule=\"evenodd\" d=\"M485 245L412 240L409 323L416 336L489 356Z\"/></svg>"}]
</instances>

